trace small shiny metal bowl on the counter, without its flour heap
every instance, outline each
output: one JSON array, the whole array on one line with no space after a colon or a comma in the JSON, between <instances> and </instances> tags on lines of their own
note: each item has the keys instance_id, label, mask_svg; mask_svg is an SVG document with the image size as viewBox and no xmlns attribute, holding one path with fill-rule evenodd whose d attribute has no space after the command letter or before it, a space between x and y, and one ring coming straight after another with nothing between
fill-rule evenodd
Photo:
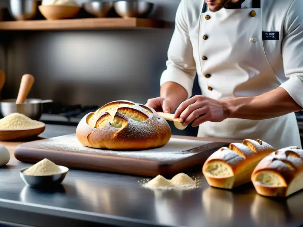
<instances>
[{"instance_id":1,"label":"small shiny metal bowl on the counter, without its flour heap","mask_svg":"<svg viewBox=\"0 0 303 227\"><path fill-rule=\"evenodd\" d=\"M31 176L31 175L26 175L23 172L30 168L26 167L20 170L20 176L22 180L30 187L35 187L35 188L50 188L50 187L55 187L58 186L62 183L64 180L68 168L65 166L58 166L61 169L61 173L59 174L54 174L54 175L48 175L48 176Z\"/></svg>"}]
</instances>

